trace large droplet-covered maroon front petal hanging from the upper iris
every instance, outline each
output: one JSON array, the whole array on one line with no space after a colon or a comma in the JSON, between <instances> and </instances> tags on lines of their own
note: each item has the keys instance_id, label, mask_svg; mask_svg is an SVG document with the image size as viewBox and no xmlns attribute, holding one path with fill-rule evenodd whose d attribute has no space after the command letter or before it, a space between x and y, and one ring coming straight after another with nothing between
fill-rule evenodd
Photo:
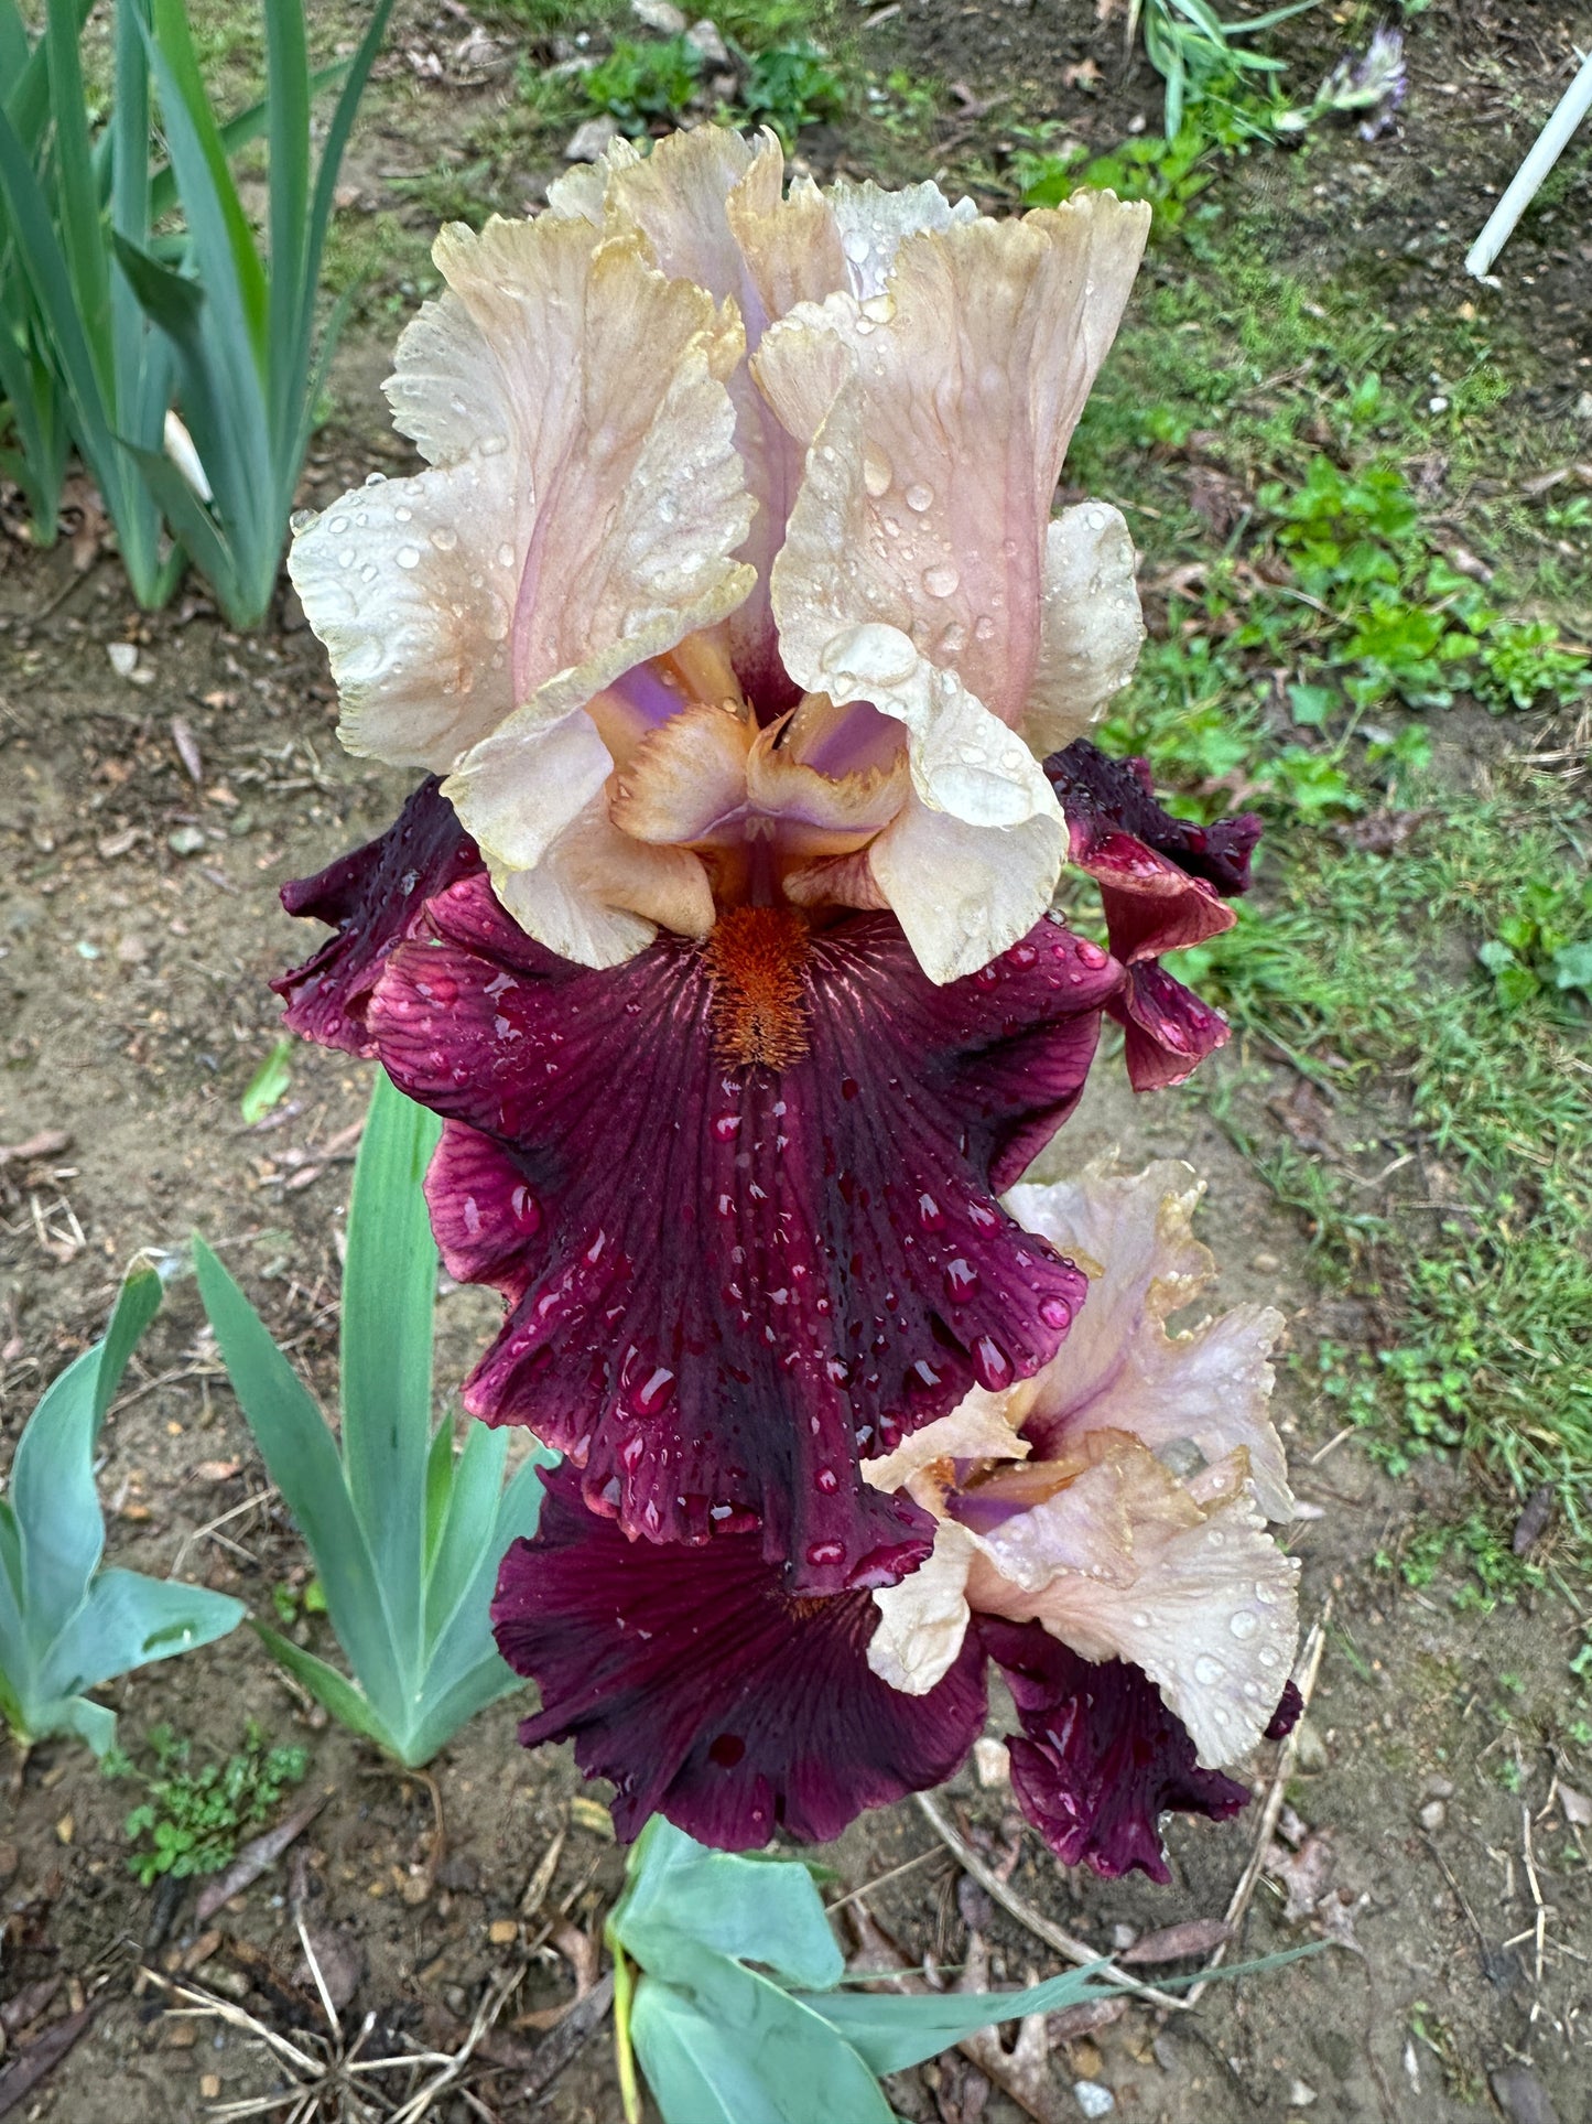
<instances>
[{"instance_id":1,"label":"large droplet-covered maroon front petal hanging from the upper iris","mask_svg":"<svg viewBox=\"0 0 1592 2124\"><path fill-rule=\"evenodd\" d=\"M463 1124L429 1181L450 1272L512 1306L467 1408L531 1423L626 1534L760 1521L792 1589L900 1576L932 1525L858 1457L1055 1355L1087 1283L996 1189L1076 1102L1121 969L1046 920L934 988L870 913L737 998L711 943L573 966L486 879L429 922L369 1026Z\"/></svg>"}]
</instances>

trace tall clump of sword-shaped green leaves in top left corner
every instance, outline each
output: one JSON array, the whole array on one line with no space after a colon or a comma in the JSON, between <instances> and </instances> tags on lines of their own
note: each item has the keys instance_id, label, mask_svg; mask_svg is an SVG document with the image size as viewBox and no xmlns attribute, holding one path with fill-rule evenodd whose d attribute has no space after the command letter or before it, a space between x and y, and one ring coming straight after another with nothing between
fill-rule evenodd
<instances>
[{"instance_id":1,"label":"tall clump of sword-shaped green leaves in top left corner","mask_svg":"<svg viewBox=\"0 0 1592 2124\"><path fill-rule=\"evenodd\" d=\"M96 134L83 0L53 0L36 42L17 0L0 0L0 79L11 83L0 96L0 393L13 438L0 469L19 480L49 542L66 444L76 444L142 605L161 605L191 559L233 624L265 614L342 325L335 310L316 344L327 221L391 6L378 0L352 59L312 74L304 0L267 0L265 102L223 125L185 0L117 0L110 115ZM338 76L312 170L310 106ZM153 168L157 127L170 164ZM265 251L229 166L261 136ZM172 236L174 208L185 227ZM172 410L197 478L172 455Z\"/></svg>"}]
</instances>

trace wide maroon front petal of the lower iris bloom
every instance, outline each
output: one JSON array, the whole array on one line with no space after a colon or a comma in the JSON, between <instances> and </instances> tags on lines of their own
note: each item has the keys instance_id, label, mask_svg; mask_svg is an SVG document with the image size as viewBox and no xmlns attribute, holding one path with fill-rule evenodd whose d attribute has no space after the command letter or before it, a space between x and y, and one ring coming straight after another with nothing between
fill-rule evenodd
<instances>
[{"instance_id":1,"label":"wide maroon front petal of the lower iris bloom","mask_svg":"<svg viewBox=\"0 0 1592 2124\"><path fill-rule=\"evenodd\" d=\"M626 1842L662 1812L717 1850L777 1829L824 1844L940 1784L983 1729L972 1633L936 1689L902 1695L868 1667L868 1593L794 1599L756 1536L628 1542L569 1468L541 1483L541 1525L499 1574L497 1644L541 1689L520 1740L573 1740L586 1776L613 1780Z\"/></svg>"}]
</instances>

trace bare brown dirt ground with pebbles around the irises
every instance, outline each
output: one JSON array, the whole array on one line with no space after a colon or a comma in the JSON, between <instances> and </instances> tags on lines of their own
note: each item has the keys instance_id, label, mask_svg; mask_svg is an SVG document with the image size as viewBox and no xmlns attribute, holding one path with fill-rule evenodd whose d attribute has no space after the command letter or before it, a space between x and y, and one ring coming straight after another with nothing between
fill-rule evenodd
<instances>
[{"instance_id":1,"label":"bare brown dirt ground with pebbles around the irises","mask_svg":"<svg viewBox=\"0 0 1592 2124\"><path fill-rule=\"evenodd\" d=\"M1363 13L1354 11L1356 30ZM1320 8L1288 32L1301 87L1329 64L1348 15ZM401 11L397 42L433 28L431 11ZM1293 183L1284 157L1257 157L1233 178L1244 212L1288 219L1301 257L1322 274L1359 276L1395 308L1463 299L1458 255L1488 191L1513 170L1528 115L1567 79L1571 45L1592 42L1592 15L1439 0L1414 32L1412 93L1395 138L1363 149L1348 136L1320 195ZM1093 0L906 0L879 15L864 49L881 64L962 83L968 113L1002 87L1025 108L1066 117L1097 147L1159 113L1155 76L1142 62L1123 66L1121 11L1102 25ZM1078 79L1091 59L1093 87ZM425 151L384 130L384 108L357 142L361 181L371 185L374 172L412 166ZM461 125L461 108L456 93L437 91L439 136ZM1004 108L955 121L940 147L951 153L983 125L996 151L1008 119ZM858 168L841 134L815 138L811 161L819 174ZM548 174L526 172L526 191ZM1569 225L1537 225L1511 253L1511 285L1530 306L1543 355L1528 389L1552 414L1586 389L1590 268L1592 244ZM306 482L310 503L371 467L405 463L374 393L391 336L382 325L344 350L338 414ZM129 678L106 654L121 641L138 644ZM401 777L346 758L333 724L325 658L291 597L274 624L240 639L197 586L149 618L132 607L113 559L79 571L70 546L40 556L0 539L0 1143L40 1130L66 1138L45 1158L0 1164L0 1461L40 1387L100 1332L132 1253L180 1247L193 1230L223 1251L316 1385L331 1383L335 1236L367 1073L301 1049L291 1092L265 1121L244 1128L238 1096L274 1039L278 1005L265 983L306 952L280 913L278 886L380 828L403 794ZM1458 752L1454 771L1471 771ZM1229 1054L1225 1066L1254 1128L1274 1130L1295 1079L1265 1054ZM1112 1143L1134 1166L1187 1155L1208 1177L1204 1238L1223 1266L1218 1302L1280 1304L1299 1351L1320 1336L1363 1334L1354 1311L1320 1289L1305 1234L1276 1209L1208 1104L1180 1094L1134 1102L1108 1049L1034 1177L1076 1168ZM471 1361L492 1313L478 1291L444 1291L442 1383ZM151 1572L180 1559L187 1574L270 1614L270 1589L301 1582L304 1555L265 1495L202 1328L193 1285L176 1283L106 1427L108 1546L115 1561ZM1134 2007L1059 2043L1053 2113L1100 2113L1070 2092L1091 2082L1136 2124L1242 2124L1295 2111L1322 2124L1471 2116L1533 2124L1550 2116L1530 2107L1541 2099L1552 2099L1560 2124L1584 2124L1592 1854L1575 1795L1592 1788L1592 1765L1543 1737L1564 1725L1577 1614L1545 1597L1467 1612L1441 1582L1407 1587L1378 1557L1397 1551L1416 1514L1452 1508L1467 1472L1431 1459L1395 1485L1352 1438L1335 1436L1286 1368L1278 1408L1299 1495L1320 1514L1293 1536L1305 1565L1303 1614L1314 1621L1331 1599L1331 1623L1242 1950L1314 1937L1333 1946L1282 1971L1216 1984L1191 2014ZM250 1497L261 1502L248 1506ZM236 1517L202 1534L223 1514ZM325 1648L323 1638L312 1642ZM490 2073L473 2082L490 2107L452 2099L437 2118L618 2120L605 2028L546 2096L522 2092L546 2039L537 2016L546 2020L573 1990L569 1958L520 1920L526 1882L567 1827L552 1903L601 1931L622 1854L590 1814L571 1818L579 1782L567 1750L516 1750L514 1701L475 1720L433 1765L437 1848L427 1786L327 1727L248 1631L149 1667L110 1699L123 1744L166 1720L227 1752L250 1716L274 1740L301 1740L312 1750L306 1788L327 1803L297 1846L297 1878L280 1867L200 1926L191 1895L172 1899L129 1878L127 1788L102 1780L81 1748L45 1744L25 1765L0 1759L8 1780L0 1999L59 1980L32 2035L81 1994L102 2001L89 2033L19 2116L168 2124L204 2113L212 2077L223 2099L270 2092L274 2069L259 2045L170 2016L159 1988L136 1986L134 1971L140 1956L161 1971L185 1969L282 2031L310 2028L316 2007L293 1931L297 1895L348 1980L344 2024L352 2031L374 2016L367 2054L405 2039L454 2045L490 1977L526 1963L484 2052ZM1269 1759L1254 1765L1254 1780L1267 1788ZM1021 1897L1102 1952L1129 1933L1221 1916L1259 1812L1221 1827L1174 1825L1174 1884L1155 1888L1057 1869L1010 1793L972 1769L942 1797ZM913 1803L858 1822L826 1856L843 1884L834 1895L923 1856L868 1897L911 1960L934 1954L959 1965L979 1933L996 1982L1055 1967L983 1890L957 1886L955 1863ZM25 2026L13 2031L23 2035ZM1509 2069L1526 2062L1528 2075L1511 2082ZM981 2107L979 2075L955 2058L902 2075L892 2099L906 2118L947 2124L1021 2116L1000 2092Z\"/></svg>"}]
</instances>

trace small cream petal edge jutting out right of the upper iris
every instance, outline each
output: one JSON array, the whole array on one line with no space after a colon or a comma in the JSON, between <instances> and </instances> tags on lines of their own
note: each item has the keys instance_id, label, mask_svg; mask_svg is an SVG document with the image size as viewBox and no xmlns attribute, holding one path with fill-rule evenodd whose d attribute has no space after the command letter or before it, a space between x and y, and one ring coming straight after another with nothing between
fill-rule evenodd
<instances>
[{"instance_id":1,"label":"small cream petal edge jutting out right of the upper iris","mask_svg":"<svg viewBox=\"0 0 1592 2124\"><path fill-rule=\"evenodd\" d=\"M1144 614L1121 510L1080 501L1044 535L1040 656L1023 735L1044 758L1080 737L1134 678Z\"/></svg>"}]
</instances>

